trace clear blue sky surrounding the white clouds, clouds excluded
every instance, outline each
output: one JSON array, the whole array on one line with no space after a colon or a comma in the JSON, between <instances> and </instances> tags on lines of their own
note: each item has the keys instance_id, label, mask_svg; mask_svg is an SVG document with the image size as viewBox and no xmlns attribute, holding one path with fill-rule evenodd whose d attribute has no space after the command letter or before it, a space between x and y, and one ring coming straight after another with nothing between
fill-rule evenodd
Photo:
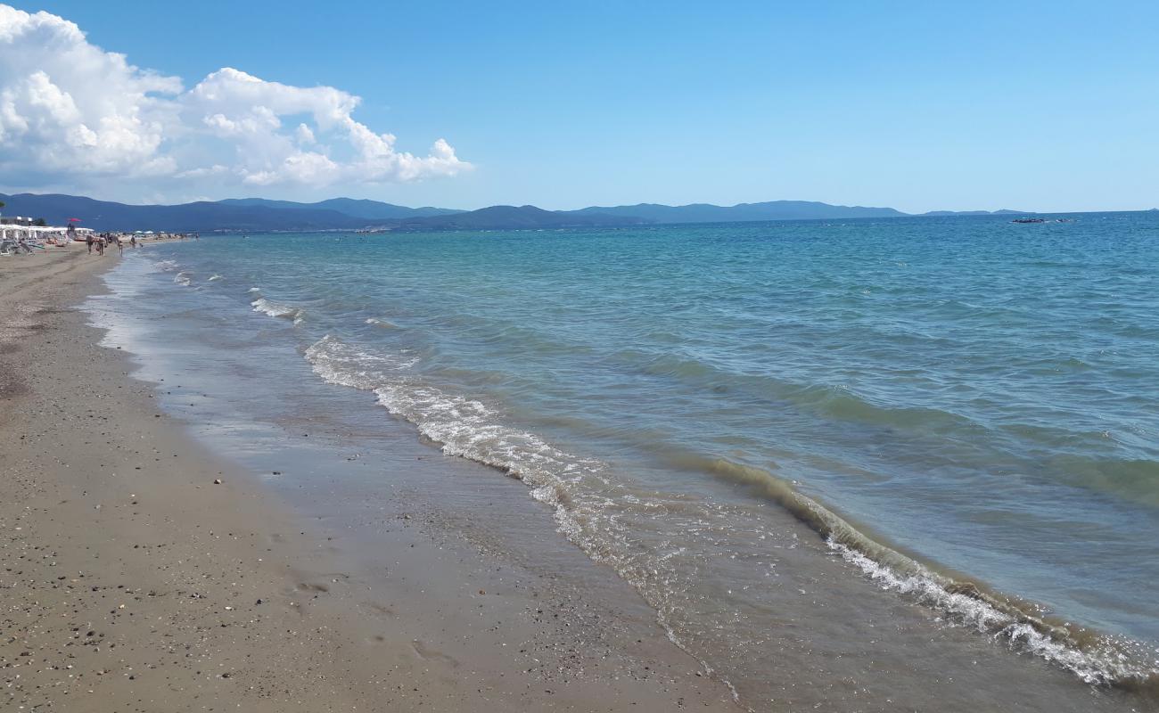
<instances>
[{"instance_id":1,"label":"clear blue sky surrounding the white clouds, clouds excluded","mask_svg":"<svg viewBox=\"0 0 1159 713\"><path fill-rule=\"evenodd\" d=\"M185 90L221 67L341 89L400 151L425 157L443 138L471 165L373 182L353 169L315 183L34 176L44 185L29 190L454 208L1159 204L1154 2L12 5L72 21ZM0 190L17 188L6 168Z\"/></svg>"}]
</instances>

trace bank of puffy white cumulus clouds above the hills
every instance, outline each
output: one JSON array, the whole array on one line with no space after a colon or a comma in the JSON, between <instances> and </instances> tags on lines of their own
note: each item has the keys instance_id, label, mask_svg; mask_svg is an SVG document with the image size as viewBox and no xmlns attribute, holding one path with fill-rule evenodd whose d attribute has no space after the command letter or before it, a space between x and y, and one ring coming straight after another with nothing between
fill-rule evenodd
<instances>
[{"instance_id":1,"label":"bank of puffy white cumulus clouds above the hills","mask_svg":"<svg viewBox=\"0 0 1159 713\"><path fill-rule=\"evenodd\" d=\"M408 182L471 168L443 139L425 157L353 118L359 97L225 67L187 89L89 44L74 23L0 5L0 173L248 185ZM35 177L35 179L34 179Z\"/></svg>"}]
</instances>

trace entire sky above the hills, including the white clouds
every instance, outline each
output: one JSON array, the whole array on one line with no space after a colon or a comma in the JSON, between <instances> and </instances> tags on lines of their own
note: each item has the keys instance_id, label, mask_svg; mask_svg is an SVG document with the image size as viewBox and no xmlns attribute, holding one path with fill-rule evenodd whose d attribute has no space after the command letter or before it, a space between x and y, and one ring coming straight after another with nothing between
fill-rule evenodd
<instances>
[{"instance_id":1,"label":"entire sky above the hills, including the white clouds","mask_svg":"<svg viewBox=\"0 0 1159 713\"><path fill-rule=\"evenodd\" d=\"M1159 204L1153 1L3 1L2 192Z\"/></svg>"}]
</instances>

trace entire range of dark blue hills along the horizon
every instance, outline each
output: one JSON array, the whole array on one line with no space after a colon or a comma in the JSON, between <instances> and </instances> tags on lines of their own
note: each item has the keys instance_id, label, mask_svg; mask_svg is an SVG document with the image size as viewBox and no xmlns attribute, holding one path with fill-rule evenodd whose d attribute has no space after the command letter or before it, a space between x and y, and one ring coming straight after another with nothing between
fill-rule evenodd
<instances>
[{"instance_id":1,"label":"entire range of dark blue hills along the horizon","mask_svg":"<svg viewBox=\"0 0 1159 713\"><path fill-rule=\"evenodd\" d=\"M770 201L723 206L690 205L591 206L548 211L534 205L493 205L474 211L447 208L406 208L379 201L330 198L316 203L228 198L180 205L129 205L61 194L0 194L9 216L44 218L64 225L71 218L97 231L326 231L380 228L393 231L611 227L673 223L739 223L752 220L809 220L892 218L910 213L892 208L830 205L812 201ZM1023 213L1025 211L996 211ZM989 214L987 211L934 211L927 216Z\"/></svg>"}]
</instances>

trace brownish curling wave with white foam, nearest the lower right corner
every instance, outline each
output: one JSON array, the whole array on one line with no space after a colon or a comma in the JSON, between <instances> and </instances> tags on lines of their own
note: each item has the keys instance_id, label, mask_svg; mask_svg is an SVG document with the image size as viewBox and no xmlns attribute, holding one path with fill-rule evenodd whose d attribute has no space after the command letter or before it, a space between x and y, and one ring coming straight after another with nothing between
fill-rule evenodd
<instances>
[{"instance_id":1,"label":"brownish curling wave with white foam, nearest the lower right corner","mask_svg":"<svg viewBox=\"0 0 1159 713\"><path fill-rule=\"evenodd\" d=\"M713 476L748 486L777 503L882 588L934 609L949 624L1004 640L1009 648L1062 665L1088 684L1146 689L1159 685L1159 669L1147 663L1147 652L1139 642L1056 621L1033 603L934 572L874 540L767 471L724 459L693 460Z\"/></svg>"}]
</instances>

